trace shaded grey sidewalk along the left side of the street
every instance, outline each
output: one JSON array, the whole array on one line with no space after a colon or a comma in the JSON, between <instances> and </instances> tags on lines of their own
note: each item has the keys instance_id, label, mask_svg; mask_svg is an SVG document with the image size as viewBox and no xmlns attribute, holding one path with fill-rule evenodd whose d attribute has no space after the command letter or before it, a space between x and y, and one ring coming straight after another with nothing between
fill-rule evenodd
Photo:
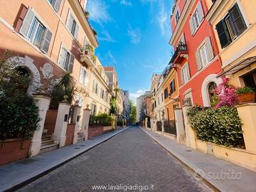
<instances>
[{"instance_id":1,"label":"shaded grey sidewalk along the left side of the street","mask_svg":"<svg viewBox=\"0 0 256 192\"><path fill-rule=\"evenodd\" d=\"M29 183L128 128L124 127L114 132L107 132L84 142L0 166L0 191L12 191L18 186Z\"/></svg>"}]
</instances>

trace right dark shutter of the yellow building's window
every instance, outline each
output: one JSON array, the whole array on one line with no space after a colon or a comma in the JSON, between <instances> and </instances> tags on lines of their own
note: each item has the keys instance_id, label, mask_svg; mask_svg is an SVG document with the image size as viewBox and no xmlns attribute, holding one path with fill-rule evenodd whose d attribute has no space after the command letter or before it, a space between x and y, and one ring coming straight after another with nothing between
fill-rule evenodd
<instances>
[{"instance_id":1,"label":"right dark shutter of the yellow building's window","mask_svg":"<svg viewBox=\"0 0 256 192\"><path fill-rule=\"evenodd\" d=\"M236 35L239 36L243 31L245 31L247 26L245 24L244 18L242 17L238 4L235 4L235 6L230 9L229 13L235 26L235 30L237 33Z\"/></svg>"}]
</instances>

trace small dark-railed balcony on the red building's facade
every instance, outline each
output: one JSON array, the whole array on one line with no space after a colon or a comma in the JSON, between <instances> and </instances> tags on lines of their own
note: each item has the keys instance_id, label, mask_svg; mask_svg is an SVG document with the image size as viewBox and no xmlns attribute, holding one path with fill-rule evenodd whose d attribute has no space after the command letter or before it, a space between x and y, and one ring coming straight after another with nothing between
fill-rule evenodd
<instances>
[{"instance_id":1,"label":"small dark-railed balcony on the red building's facade","mask_svg":"<svg viewBox=\"0 0 256 192\"><path fill-rule=\"evenodd\" d=\"M188 50L186 44L180 43L178 44L170 63L174 63L174 67L176 67L175 64L181 63L185 58L188 59Z\"/></svg>"}]
</instances>

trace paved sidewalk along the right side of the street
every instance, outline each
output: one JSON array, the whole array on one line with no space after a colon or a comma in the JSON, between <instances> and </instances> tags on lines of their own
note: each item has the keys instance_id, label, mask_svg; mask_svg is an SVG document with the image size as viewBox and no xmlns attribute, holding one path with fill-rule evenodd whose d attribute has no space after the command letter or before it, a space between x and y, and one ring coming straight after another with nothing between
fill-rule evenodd
<instances>
[{"instance_id":1,"label":"paved sidewalk along the right side of the street","mask_svg":"<svg viewBox=\"0 0 256 192\"><path fill-rule=\"evenodd\" d=\"M185 144L178 143L168 137L142 128L152 139L176 156L196 175L201 177L216 191L256 191L256 173L241 166L218 159L211 154L191 149Z\"/></svg>"}]
</instances>

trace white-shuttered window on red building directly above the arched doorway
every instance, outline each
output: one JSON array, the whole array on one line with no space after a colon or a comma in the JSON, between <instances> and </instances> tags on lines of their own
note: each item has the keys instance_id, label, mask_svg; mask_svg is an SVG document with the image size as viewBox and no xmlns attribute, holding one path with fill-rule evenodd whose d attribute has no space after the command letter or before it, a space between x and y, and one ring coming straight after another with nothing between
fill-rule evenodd
<instances>
[{"instance_id":1,"label":"white-shuttered window on red building directly above the arched doorway","mask_svg":"<svg viewBox=\"0 0 256 192\"><path fill-rule=\"evenodd\" d=\"M207 37L206 41L203 42L203 45L196 50L196 62L198 65L198 70L201 70L201 68L210 63L210 60L213 60L213 58L213 48L210 43L210 38Z\"/></svg>"}]
</instances>

